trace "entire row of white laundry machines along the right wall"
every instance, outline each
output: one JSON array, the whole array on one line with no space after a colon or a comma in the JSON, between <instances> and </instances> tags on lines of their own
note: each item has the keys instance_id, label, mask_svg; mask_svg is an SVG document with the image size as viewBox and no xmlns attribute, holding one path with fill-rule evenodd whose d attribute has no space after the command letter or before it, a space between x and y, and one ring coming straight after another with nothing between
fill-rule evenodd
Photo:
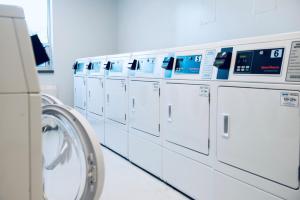
<instances>
[{"instance_id":1,"label":"entire row of white laundry machines along the right wall","mask_svg":"<svg viewBox=\"0 0 300 200\"><path fill-rule=\"evenodd\" d=\"M78 59L100 142L201 200L299 200L300 33Z\"/></svg>"}]
</instances>

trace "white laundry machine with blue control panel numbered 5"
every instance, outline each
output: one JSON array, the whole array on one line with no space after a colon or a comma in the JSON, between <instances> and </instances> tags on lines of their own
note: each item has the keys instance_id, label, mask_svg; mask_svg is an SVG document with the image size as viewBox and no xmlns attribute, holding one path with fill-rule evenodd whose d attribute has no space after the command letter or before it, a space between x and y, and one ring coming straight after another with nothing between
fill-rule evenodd
<instances>
[{"instance_id":1,"label":"white laundry machine with blue control panel numbered 5","mask_svg":"<svg viewBox=\"0 0 300 200\"><path fill-rule=\"evenodd\" d=\"M178 48L162 87L163 179L187 195L212 198L210 79L216 49Z\"/></svg>"}]
</instances>

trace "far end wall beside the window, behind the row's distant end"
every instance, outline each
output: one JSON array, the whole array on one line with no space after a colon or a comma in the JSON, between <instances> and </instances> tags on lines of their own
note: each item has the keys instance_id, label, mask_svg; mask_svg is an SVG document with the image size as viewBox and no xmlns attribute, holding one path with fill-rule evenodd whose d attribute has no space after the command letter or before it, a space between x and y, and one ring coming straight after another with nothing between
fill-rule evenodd
<instances>
[{"instance_id":1,"label":"far end wall beside the window, behind the row's distant end","mask_svg":"<svg viewBox=\"0 0 300 200\"><path fill-rule=\"evenodd\" d=\"M58 97L73 104L74 60L116 52L115 0L52 0L54 74L39 74L42 85L55 84Z\"/></svg>"}]
</instances>

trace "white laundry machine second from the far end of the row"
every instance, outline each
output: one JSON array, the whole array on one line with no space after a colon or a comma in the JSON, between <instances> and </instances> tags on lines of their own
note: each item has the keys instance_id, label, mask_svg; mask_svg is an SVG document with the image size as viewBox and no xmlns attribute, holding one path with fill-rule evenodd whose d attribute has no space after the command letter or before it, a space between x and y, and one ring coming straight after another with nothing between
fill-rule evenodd
<instances>
[{"instance_id":1,"label":"white laundry machine second from the far end of the row","mask_svg":"<svg viewBox=\"0 0 300 200\"><path fill-rule=\"evenodd\" d=\"M91 58L87 72L87 114L86 118L94 128L98 140L105 144L104 134L104 64L106 56Z\"/></svg>"}]
</instances>

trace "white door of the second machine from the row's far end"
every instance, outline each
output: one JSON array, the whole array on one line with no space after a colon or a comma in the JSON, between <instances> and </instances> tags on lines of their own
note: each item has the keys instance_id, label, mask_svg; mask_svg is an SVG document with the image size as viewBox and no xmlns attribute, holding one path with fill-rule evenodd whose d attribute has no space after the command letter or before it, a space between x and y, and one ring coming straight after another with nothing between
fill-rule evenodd
<instances>
[{"instance_id":1,"label":"white door of the second machine from the row's far end","mask_svg":"<svg viewBox=\"0 0 300 200\"><path fill-rule=\"evenodd\" d=\"M103 115L104 88L102 78L87 78L87 110Z\"/></svg>"}]
</instances>

